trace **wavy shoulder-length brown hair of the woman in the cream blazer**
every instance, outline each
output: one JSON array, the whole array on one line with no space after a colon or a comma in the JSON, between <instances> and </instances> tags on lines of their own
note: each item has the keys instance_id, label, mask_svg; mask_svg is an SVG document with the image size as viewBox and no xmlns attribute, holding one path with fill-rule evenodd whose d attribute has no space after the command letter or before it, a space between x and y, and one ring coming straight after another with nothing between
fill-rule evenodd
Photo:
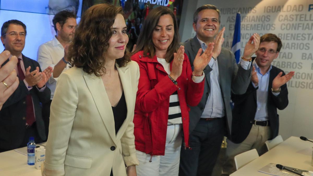
<instances>
[{"instance_id":1,"label":"wavy shoulder-length brown hair of the woman in the cream blazer","mask_svg":"<svg viewBox=\"0 0 313 176\"><path fill-rule=\"evenodd\" d=\"M112 36L112 25L117 14L124 16L121 7L110 4L96 4L88 8L81 16L75 30L73 41L69 45L69 63L77 68L83 68L88 74L101 77L105 74L105 54L109 48ZM130 62L125 50L124 57L115 61L119 67Z\"/></svg>"}]
</instances>

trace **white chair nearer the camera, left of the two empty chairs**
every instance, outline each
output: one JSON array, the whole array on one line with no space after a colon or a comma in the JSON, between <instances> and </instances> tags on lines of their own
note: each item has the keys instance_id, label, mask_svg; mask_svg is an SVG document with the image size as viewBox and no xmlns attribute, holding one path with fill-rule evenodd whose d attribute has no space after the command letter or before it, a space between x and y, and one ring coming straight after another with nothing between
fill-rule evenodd
<instances>
[{"instance_id":1,"label":"white chair nearer the camera, left of the two empty chairs","mask_svg":"<svg viewBox=\"0 0 313 176\"><path fill-rule=\"evenodd\" d=\"M234 157L236 170L242 168L244 165L250 163L254 159L258 158L259 154L256 149L249 150L244 153L240 153Z\"/></svg>"}]
</instances>

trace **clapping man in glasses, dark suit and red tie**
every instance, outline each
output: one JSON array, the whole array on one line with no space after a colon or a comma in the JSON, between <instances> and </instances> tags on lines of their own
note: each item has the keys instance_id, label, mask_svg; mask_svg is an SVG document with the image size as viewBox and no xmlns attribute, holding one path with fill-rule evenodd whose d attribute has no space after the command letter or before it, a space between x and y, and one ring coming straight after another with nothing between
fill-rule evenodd
<instances>
[{"instance_id":1,"label":"clapping man in glasses, dark suit and red tie","mask_svg":"<svg viewBox=\"0 0 313 176\"><path fill-rule=\"evenodd\" d=\"M16 72L19 85L3 104L0 111L0 152L24 147L33 136L36 143L46 140L41 104L50 100L50 89L45 85L52 68L41 71L37 61L22 54L26 26L18 20L9 20L1 28L1 42L11 56L18 58ZM4 64L6 63L4 62Z\"/></svg>"}]
</instances>

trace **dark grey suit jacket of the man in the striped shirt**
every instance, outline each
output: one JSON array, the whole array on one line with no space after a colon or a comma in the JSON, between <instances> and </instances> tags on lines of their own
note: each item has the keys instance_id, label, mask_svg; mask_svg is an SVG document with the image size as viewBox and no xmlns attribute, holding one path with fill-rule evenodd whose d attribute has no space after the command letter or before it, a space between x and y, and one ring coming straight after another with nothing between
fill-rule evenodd
<instances>
[{"instance_id":1,"label":"dark grey suit jacket of the man in the striped shirt","mask_svg":"<svg viewBox=\"0 0 313 176\"><path fill-rule=\"evenodd\" d=\"M193 69L193 60L196 57L198 50L201 48L200 43L195 36L193 39L189 39L185 46L185 53L188 55L190 64ZM241 66L237 66L234 54L228 49L222 48L221 53L217 57L218 72L219 72L219 84L221 87L222 97L225 105L226 115L226 136L230 137L232 113L230 108L230 94L231 91L236 94L244 94L250 83L251 70L244 70ZM207 103L208 96L210 94L210 72L212 69L207 65L203 70L205 73L204 93L198 106L191 107L190 110L190 122L189 132L191 133L196 127L200 117L203 113L205 105Z\"/></svg>"}]
</instances>

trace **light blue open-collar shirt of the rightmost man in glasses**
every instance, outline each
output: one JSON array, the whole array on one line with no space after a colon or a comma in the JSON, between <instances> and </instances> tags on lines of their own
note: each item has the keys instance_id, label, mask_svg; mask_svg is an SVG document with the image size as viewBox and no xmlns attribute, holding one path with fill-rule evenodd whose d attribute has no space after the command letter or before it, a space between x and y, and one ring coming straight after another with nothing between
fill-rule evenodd
<instances>
[{"instance_id":1,"label":"light blue open-collar shirt of the rightmost man in glasses","mask_svg":"<svg viewBox=\"0 0 313 176\"><path fill-rule=\"evenodd\" d=\"M255 67L256 74L259 79L258 86L255 86L252 82L254 88L259 87L256 90L256 99L257 99L257 110L255 113L254 120L256 121L266 121L269 119L267 111L267 98L268 98L268 88L269 88L269 71L272 70L272 65L269 67L269 70L262 75L260 67L256 64L255 60L252 65ZM273 95L278 96L280 93L272 92Z\"/></svg>"}]
</instances>

